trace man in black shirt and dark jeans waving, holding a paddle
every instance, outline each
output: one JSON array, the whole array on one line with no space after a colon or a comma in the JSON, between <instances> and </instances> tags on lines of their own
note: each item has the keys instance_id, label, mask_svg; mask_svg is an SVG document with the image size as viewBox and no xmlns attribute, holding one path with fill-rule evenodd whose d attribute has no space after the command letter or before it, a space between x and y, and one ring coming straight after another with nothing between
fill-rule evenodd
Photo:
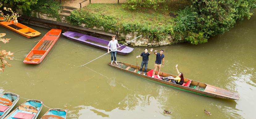
<instances>
[{"instance_id":1,"label":"man in black shirt and dark jeans waving, holding a paddle","mask_svg":"<svg viewBox=\"0 0 256 119\"><path fill-rule=\"evenodd\" d=\"M144 49L144 52L142 52L139 56L136 56L136 58L138 57L141 57L142 56L142 62L141 62L141 66L140 66L140 70L138 73L142 72L142 68L145 64L145 69L144 69L144 74L143 75L146 75L146 72L147 72L147 64L148 64L148 56L152 53L153 51L153 48L150 49L150 53L148 53L148 49L145 48Z\"/></svg>"}]
</instances>

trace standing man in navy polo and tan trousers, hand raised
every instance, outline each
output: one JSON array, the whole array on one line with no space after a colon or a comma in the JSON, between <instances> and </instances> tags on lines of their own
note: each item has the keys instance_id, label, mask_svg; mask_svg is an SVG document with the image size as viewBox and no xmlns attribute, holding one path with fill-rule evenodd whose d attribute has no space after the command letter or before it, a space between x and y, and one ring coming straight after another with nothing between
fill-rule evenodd
<instances>
[{"instance_id":1,"label":"standing man in navy polo and tan trousers, hand raised","mask_svg":"<svg viewBox=\"0 0 256 119\"><path fill-rule=\"evenodd\" d=\"M156 53L157 50L155 50L154 54L156 55L156 59L155 59L155 65L154 65L154 70L152 73L152 78L154 78L155 75L155 71L157 68L157 77L160 78L159 73L160 73L160 68L163 67L164 65L164 55L163 55L163 50L161 49L159 53ZM162 64L163 61L163 64Z\"/></svg>"}]
</instances>

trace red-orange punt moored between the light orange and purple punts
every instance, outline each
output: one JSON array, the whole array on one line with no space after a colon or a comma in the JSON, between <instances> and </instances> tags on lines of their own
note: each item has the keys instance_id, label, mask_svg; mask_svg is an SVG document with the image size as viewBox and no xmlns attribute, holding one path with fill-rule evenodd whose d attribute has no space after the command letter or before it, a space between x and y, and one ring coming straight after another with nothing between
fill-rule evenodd
<instances>
[{"instance_id":1,"label":"red-orange punt moored between the light orange and purple punts","mask_svg":"<svg viewBox=\"0 0 256 119\"><path fill-rule=\"evenodd\" d=\"M23 63L39 64L52 49L53 45L60 38L61 29L51 29L27 54Z\"/></svg>"}]
</instances>

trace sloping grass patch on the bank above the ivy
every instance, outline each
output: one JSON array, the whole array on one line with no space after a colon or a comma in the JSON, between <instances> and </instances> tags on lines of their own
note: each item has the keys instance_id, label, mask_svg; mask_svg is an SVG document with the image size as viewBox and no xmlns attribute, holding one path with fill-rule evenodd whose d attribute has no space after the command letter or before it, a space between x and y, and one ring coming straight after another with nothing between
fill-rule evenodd
<instances>
[{"instance_id":1,"label":"sloping grass patch on the bank above the ivy","mask_svg":"<svg viewBox=\"0 0 256 119\"><path fill-rule=\"evenodd\" d=\"M178 2L178 3L177 3ZM176 4L176 5L174 5ZM170 25L174 23L173 18L169 15L170 12L177 13L184 6L188 5L188 2L184 0L176 0L168 4L171 10L158 10L155 11L150 8L142 8L140 10L126 10L122 7L122 4L89 4L83 7L85 11L92 13L99 13L104 15L110 15L118 20L118 24L123 22L135 22L135 23L147 23L152 27L159 25ZM175 7L172 7L175 6Z\"/></svg>"}]
</instances>

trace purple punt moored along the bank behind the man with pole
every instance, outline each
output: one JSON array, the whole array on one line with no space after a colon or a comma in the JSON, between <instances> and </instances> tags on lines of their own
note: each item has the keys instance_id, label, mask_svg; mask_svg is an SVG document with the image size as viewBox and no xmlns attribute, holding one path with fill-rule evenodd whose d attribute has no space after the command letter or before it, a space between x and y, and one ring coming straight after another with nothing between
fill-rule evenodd
<instances>
[{"instance_id":1,"label":"purple punt moored along the bank behind the man with pole","mask_svg":"<svg viewBox=\"0 0 256 119\"><path fill-rule=\"evenodd\" d=\"M108 44L109 44L108 40L103 40L100 38L88 36L88 35L85 35L82 33L72 32L72 31L67 31L62 34L70 40L74 40L77 42L81 42L81 43L95 46L97 48L101 48L101 49L105 49L105 50L108 49ZM121 46L122 44L119 44L119 45ZM126 55L126 54L132 52L133 49L134 48L130 48L128 46L123 45L120 48L117 48L117 53L121 54L121 55Z\"/></svg>"}]
</instances>

